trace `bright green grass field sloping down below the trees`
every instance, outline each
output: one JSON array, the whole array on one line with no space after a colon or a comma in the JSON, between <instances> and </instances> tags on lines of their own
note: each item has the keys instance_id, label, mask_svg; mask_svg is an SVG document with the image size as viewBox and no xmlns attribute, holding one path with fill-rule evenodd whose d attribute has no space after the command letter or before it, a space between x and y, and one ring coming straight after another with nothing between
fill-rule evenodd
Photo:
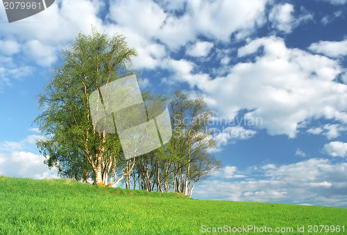
<instances>
[{"instance_id":1,"label":"bright green grass field sloping down below the trees","mask_svg":"<svg viewBox=\"0 0 347 235\"><path fill-rule=\"evenodd\" d=\"M307 229L344 225L347 233L347 209L194 200L67 179L0 177L0 234L202 234L203 225L294 228L277 234L332 234ZM305 233L296 232L298 225L305 226Z\"/></svg>"}]
</instances>

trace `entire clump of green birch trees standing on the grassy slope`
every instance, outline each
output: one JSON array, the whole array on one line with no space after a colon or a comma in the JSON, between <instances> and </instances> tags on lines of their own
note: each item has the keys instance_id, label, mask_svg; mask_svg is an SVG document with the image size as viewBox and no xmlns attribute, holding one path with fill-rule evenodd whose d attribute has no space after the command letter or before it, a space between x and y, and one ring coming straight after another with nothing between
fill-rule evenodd
<instances>
[{"instance_id":1,"label":"entire clump of green birch trees standing on the grassy slope","mask_svg":"<svg viewBox=\"0 0 347 235\"><path fill-rule=\"evenodd\" d=\"M179 90L169 101L173 136L151 153L126 160L116 133L96 132L90 115L89 96L113 80L137 74L122 35L80 33L62 51L62 65L53 69L51 80L38 95L42 111L35 119L46 138L37 141L45 164L58 168L58 175L100 186L180 192L192 195L194 185L221 167L208 150L214 147L208 130L210 111L203 98L189 99ZM146 92L144 100L153 95Z\"/></svg>"}]
</instances>

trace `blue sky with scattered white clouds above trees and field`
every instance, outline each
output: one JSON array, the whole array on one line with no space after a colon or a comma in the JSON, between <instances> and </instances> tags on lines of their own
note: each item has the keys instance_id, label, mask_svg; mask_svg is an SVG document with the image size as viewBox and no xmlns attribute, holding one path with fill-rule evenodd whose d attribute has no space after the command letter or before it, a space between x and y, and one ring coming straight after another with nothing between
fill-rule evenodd
<instances>
[{"instance_id":1,"label":"blue sky with scattered white clouds above trees and field","mask_svg":"<svg viewBox=\"0 0 347 235\"><path fill-rule=\"evenodd\" d=\"M142 89L203 97L223 168L192 198L347 208L347 0L56 0L0 5L0 175L57 177L37 94L91 25L126 36Z\"/></svg>"}]
</instances>

